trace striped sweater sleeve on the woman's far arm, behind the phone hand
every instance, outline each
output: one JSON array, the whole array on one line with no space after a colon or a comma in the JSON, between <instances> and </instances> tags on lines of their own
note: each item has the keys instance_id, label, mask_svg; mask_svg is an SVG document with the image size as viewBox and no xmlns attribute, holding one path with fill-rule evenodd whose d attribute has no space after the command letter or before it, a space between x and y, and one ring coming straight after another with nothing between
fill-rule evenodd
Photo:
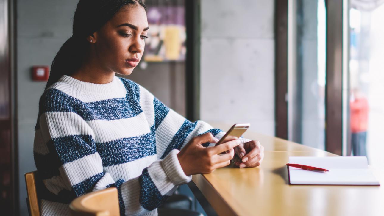
<instances>
[{"instance_id":1,"label":"striped sweater sleeve on the woman's far arm, behind the phone hand","mask_svg":"<svg viewBox=\"0 0 384 216\"><path fill-rule=\"evenodd\" d=\"M217 139L221 139L225 132L213 128L207 122L198 120L190 122L182 115L164 105L151 92L142 86L140 90L140 106L146 115L152 133L156 137L157 154L159 158L165 158L174 149L180 150L190 139L205 133L212 133ZM239 138L241 142L250 139ZM212 146L214 143L204 143L203 146Z\"/></svg>"}]
</instances>

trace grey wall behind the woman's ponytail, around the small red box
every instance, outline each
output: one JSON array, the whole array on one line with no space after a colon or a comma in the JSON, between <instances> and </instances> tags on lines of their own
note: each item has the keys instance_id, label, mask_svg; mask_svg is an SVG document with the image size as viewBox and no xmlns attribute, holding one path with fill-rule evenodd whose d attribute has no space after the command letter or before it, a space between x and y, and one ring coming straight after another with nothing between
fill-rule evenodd
<instances>
[{"instance_id":1,"label":"grey wall behind the woman's ponytail, around the small red box","mask_svg":"<svg viewBox=\"0 0 384 216\"><path fill-rule=\"evenodd\" d=\"M31 66L51 65L61 45L72 35L78 0L17 1L17 114L20 215L28 215L24 173L36 170L33 139L38 101L45 82L31 81Z\"/></svg>"}]
</instances>

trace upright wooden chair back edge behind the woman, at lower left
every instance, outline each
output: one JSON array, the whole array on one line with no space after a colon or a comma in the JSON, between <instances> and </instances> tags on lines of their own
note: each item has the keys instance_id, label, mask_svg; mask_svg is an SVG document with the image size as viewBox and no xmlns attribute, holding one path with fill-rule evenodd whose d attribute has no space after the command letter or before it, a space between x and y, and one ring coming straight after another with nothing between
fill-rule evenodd
<instances>
[{"instance_id":1,"label":"upright wooden chair back edge behind the woman, at lower left","mask_svg":"<svg viewBox=\"0 0 384 216\"><path fill-rule=\"evenodd\" d=\"M37 187L40 178L37 171L24 174L26 185L26 204L30 216L40 216L40 204L37 196Z\"/></svg>"}]
</instances>

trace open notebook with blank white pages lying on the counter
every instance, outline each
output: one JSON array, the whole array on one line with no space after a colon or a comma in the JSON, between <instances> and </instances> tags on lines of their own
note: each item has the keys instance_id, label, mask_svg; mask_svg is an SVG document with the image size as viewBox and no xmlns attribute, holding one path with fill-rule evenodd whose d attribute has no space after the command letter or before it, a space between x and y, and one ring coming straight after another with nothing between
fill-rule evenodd
<instances>
[{"instance_id":1,"label":"open notebook with blank white pages lying on the counter","mask_svg":"<svg viewBox=\"0 0 384 216\"><path fill-rule=\"evenodd\" d=\"M289 163L329 170L317 172L287 166L291 185L380 185L366 157L290 157Z\"/></svg>"}]
</instances>

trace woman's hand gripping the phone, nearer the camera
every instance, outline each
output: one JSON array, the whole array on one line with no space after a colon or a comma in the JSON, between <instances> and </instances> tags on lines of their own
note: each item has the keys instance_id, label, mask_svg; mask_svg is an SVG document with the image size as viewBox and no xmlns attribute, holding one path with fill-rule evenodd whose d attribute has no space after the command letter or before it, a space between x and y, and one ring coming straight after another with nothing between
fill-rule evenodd
<instances>
[{"instance_id":1,"label":"woman's hand gripping the phone, nearer the camera","mask_svg":"<svg viewBox=\"0 0 384 216\"><path fill-rule=\"evenodd\" d=\"M240 144L240 140L238 140L237 137L227 137L224 143L212 147L202 146L202 144L206 142L216 143L218 139L211 133L202 134L192 138L187 145L177 153L177 158L179 158L185 175L211 173L217 168L229 165L230 160L235 155L233 148ZM227 153L218 155L227 150Z\"/></svg>"}]
</instances>

